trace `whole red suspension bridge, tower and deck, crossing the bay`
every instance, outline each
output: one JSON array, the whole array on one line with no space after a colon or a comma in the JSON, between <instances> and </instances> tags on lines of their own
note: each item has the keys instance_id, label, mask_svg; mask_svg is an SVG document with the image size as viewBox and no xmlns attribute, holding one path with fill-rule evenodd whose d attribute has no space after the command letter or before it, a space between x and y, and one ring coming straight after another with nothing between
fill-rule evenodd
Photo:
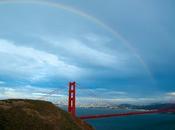
<instances>
[{"instance_id":1,"label":"whole red suspension bridge, tower and deck, crossing the bay","mask_svg":"<svg viewBox=\"0 0 175 130\"><path fill-rule=\"evenodd\" d=\"M175 107L173 107L173 108L161 108L161 109L144 110L144 111L131 111L131 112L123 112L123 113L77 116L76 115L76 85L77 85L76 82L69 82L69 84L68 84L69 90L68 90L67 110L72 115L72 117L78 117L80 119L96 119L96 118L107 118L107 117L122 117L122 116L131 116L131 115L145 115L145 114L175 112ZM52 95L57 91L58 90L51 91L48 93L48 95ZM40 99L43 99L43 97L41 97Z\"/></svg>"}]
</instances>

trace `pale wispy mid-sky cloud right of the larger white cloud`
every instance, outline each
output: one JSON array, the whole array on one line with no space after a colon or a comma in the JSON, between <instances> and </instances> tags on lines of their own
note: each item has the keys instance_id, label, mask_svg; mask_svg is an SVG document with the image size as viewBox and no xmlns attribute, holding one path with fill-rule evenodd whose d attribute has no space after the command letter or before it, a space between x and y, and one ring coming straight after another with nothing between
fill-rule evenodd
<instances>
[{"instance_id":1,"label":"pale wispy mid-sky cloud right of the larger white cloud","mask_svg":"<svg viewBox=\"0 0 175 130\"><path fill-rule=\"evenodd\" d=\"M110 49L107 46L105 47L103 44L99 45L98 41L101 37L98 36L98 38L96 38L96 35L93 36L93 42L95 43L91 41L88 43L83 43L83 41L81 41L81 39L78 38L56 39L48 36L41 36L40 38L43 41L55 46L58 50L66 52L63 55L66 56L68 59L72 58L71 61L75 60L76 62L86 64L86 66L98 66L114 69L116 67L121 67L122 65L126 64L127 57L117 52L116 53L118 55L110 51L106 51ZM102 39L103 38L101 38L101 40ZM94 47L95 44L98 44L98 47Z\"/></svg>"}]
</instances>

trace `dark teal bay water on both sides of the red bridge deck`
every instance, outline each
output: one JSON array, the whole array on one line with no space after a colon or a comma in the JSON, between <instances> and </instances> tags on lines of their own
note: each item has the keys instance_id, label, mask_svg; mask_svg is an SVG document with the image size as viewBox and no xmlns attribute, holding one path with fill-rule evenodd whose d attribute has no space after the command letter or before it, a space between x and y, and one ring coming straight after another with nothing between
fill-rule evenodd
<instances>
[{"instance_id":1,"label":"dark teal bay water on both sides of the red bridge deck","mask_svg":"<svg viewBox=\"0 0 175 130\"><path fill-rule=\"evenodd\" d=\"M78 108L78 115L118 113L123 110ZM86 120L96 130L175 130L175 114L148 114Z\"/></svg>"}]
</instances>

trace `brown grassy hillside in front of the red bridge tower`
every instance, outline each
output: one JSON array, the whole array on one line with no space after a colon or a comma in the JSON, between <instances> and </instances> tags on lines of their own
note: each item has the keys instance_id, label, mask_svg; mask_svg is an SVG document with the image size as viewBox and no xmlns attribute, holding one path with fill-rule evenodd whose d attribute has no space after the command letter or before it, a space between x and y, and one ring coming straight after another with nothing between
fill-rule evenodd
<instances>
[{"instance_id":1,"label":"brown grassy hillside in front of the red bridge tower","mask_svg":"<svg viewBox=\"0 0 175 130\"><path fill-rule=\"evenodd\" d=\"M46 101L0 100L0 130L93 130Z\"/></svg>"}]
</instances>

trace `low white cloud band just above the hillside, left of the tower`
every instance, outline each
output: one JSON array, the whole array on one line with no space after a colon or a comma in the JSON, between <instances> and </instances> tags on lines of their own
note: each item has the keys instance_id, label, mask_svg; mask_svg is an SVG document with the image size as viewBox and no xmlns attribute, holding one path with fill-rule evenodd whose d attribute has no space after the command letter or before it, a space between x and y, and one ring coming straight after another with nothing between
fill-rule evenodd
<instances>
[{"instance_id":1,"label":"low white cloud band just above the hillside, left of the tower","mask_svg":"<svg viewBox=\"0 0 175 130\"><path fill-rule=\"evenodd\" d=\"M23 99L38 99L48 100L52 102L66 102L67 95L63 89L56 88L41 88L38 86L17 86L17 87L0 87L1 99L23 98Z\"/></svg>"}]
</instances>

